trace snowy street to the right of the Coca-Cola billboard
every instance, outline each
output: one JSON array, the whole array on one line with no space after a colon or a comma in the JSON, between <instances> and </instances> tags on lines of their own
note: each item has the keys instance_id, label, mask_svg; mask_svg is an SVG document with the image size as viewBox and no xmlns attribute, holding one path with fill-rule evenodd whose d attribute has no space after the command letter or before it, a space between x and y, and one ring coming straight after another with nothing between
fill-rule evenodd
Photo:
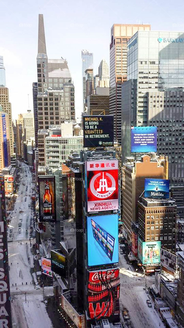
<instances>
[{"instance_id":1,"label":"snowy street to the right of the Coca-Cola billboard","mask_svg":"<svg viewBox=\"0 0 184 328\"><path fill-rule=\"evenodd\" d=\"M129 327L132 328L159 328L165 327L162 323L159 314L154 309L154 303L149 308L146 300L152 298L150 294L145 292L145 278L142 274L138 274L132 271L133 268L128 264L124 258L124 255L119 253L119 265L120 265L120 310L123 307L129 312L130 320L128 320ZM155 282L155 276L146 277L146 286L151 287ZM144 288L144 289L143 289ZM129 322L130 321L130 322ZM160 326L159 326L160 324Z\"/></svg>"}]
</instances>

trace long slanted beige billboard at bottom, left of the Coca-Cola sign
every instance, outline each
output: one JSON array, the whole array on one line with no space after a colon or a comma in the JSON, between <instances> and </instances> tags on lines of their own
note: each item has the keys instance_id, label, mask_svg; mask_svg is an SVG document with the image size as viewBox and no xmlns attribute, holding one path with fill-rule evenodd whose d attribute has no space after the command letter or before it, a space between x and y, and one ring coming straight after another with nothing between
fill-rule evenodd
<instances>
[{"instance_id":1,"label":"long slanted beige billboard at bottom, left of the Coca-Cola sign","mask_svg":"<svg viewBox=\"0 0 184 328\"><path fill-rule=\"evenodd\" d=\"M68 292L66 292L68 293ZM66 294L64 293L64 294ZM68 300L64 297L64 294L61 296L61 306L64 309L64 311L67 313L67 315L72 319L72 321L75 323L75 325L78 328L84 328L85 327L85 318L84 314L80 315L73 306L68 302Z\"/></svg>"}]
</instances>

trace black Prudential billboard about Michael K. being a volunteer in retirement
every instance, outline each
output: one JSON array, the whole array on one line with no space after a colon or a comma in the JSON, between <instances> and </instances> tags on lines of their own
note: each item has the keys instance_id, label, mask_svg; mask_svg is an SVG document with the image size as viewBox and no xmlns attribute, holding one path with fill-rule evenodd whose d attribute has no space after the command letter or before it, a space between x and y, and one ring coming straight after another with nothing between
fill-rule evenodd
<instances>
[{"instance_id":1,"label":"black Prudential billboard about Michael K. being a volunteer in retirement","mask_svg":"<svg viewBox=\"0 0 184 328\"><path fill-rule=\"evenodd\" d=\"M105 147L114 145L113 115L83 116L84 147Z\"/></svg>"}]
</instances>

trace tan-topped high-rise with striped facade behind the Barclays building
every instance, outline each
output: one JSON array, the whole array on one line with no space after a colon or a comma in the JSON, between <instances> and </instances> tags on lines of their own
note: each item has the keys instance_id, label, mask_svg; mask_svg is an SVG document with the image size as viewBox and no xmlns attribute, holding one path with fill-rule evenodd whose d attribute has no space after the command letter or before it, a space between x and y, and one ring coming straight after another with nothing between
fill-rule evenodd
<instances>
[{"instance_id":1,"label":"tan-topped high-rise with striped facade behind the Barclays building","mask_svg":"<svg viewBox=\"0 0 184 328\"><path fill-rule=\"evenodd\" d=\"M114 139L121 144L121 84L127 80L127 42L150 25L114 24L110 42L110 114L114 115Z\"/></svg>"}]
</instances>

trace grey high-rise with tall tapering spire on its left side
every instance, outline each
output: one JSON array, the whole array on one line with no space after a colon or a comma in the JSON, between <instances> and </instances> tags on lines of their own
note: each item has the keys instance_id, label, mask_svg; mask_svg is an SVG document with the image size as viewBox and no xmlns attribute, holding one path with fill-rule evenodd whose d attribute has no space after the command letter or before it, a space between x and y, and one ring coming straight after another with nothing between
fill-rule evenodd
<instances>
[{"instance_id":1,"label":"grey high-rise with tall tapering spire on its left side","mask_svg":"<svg viewBox=\"0 0 184 328\"><path fill-rule=\"evenodd\" d=\"M64 120L75 119L75 98L67 61L47 58L42 14L39 14L38 25L37 76L39 164L45 165L42 131L47 130L50 124L58 125Z\"/></svg>"}]
</instances>

